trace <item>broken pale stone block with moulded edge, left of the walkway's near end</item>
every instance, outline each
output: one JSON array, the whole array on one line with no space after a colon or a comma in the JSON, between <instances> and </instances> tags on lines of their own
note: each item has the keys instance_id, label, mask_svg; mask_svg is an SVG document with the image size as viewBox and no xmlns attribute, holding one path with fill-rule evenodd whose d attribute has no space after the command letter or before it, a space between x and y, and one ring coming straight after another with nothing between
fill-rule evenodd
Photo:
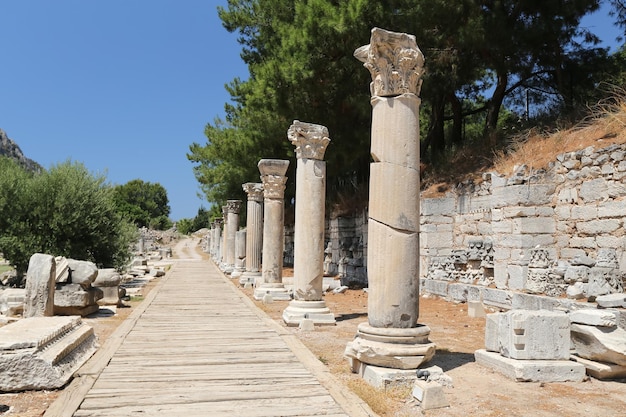
<instances>
[{"instance_id":1,"label":"broken pale stone block with moulded edge, left of the walkway's near end","mask_svg":"<svg viewBox=\"0 0 626 417\"><path fill-rule=\"evenodd\" d=\"M80 317L31 317L0 328L0 391L57 389L96 351Z\"/></svg>"}]
</instances>

